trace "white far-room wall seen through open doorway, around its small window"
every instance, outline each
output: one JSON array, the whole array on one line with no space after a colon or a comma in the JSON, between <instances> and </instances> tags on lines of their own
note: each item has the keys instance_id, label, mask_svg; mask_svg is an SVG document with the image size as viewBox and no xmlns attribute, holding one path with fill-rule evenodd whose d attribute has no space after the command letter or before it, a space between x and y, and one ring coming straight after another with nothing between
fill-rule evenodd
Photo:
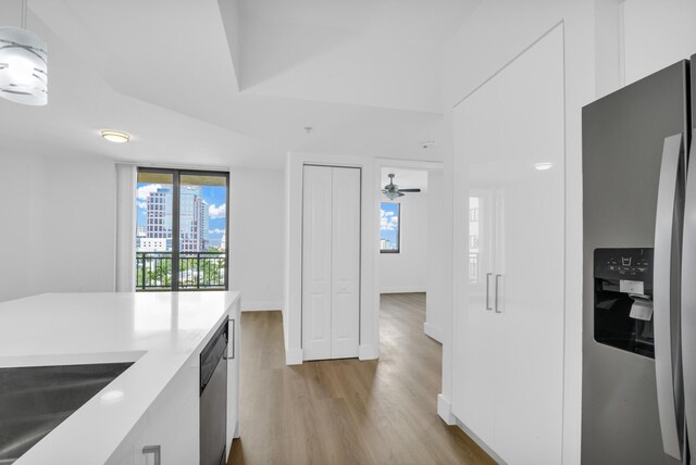
<instances>
[{"instance_id":1,"label":"white far-room wall seen through open doorway, around its small window","mask_svg":"<svg viewBox=\"0 0 696 465\"><path fill-rule=\"evenodd\" d=\"M382 198L381 201L388 201ZM380 253L380 292L425 292L427 287L428 193L408 193L398 200L401 244L399 253Z\"/></svg>"}]
</instances>

